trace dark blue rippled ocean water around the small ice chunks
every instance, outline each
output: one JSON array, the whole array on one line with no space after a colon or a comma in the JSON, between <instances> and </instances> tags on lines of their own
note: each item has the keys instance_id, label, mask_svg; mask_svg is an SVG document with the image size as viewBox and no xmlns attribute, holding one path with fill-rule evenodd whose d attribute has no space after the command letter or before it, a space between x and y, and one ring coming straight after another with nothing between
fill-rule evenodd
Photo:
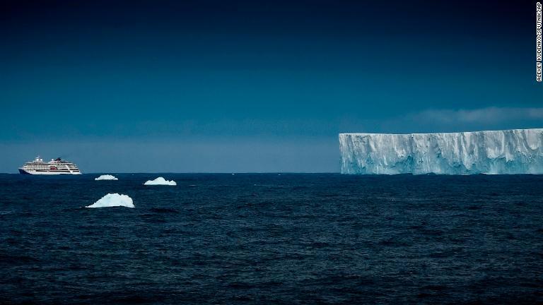
<instances>
[{"instance_id":1,"label":"dark blue rippled ocean water around the small ice chunks","mask_svg":"<svg viewBox=\"0 0 543 305\"><path fill-rule=\"evenodd\" d=\"M543 302L543 176L115 176L0 175L0 303Z\"/></svg>"}]
</instances>

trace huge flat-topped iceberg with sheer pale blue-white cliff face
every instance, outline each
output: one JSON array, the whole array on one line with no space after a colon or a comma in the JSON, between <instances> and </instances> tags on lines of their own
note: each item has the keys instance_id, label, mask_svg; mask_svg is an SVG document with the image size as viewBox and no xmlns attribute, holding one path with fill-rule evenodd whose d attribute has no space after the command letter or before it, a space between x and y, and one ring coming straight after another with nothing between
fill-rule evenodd
<instances>
[{"instance_id":1,"label":"huge flat-topped iceberg with sheer pale blue-white cliff face","mask_svg":"<svg viewBox=\"0 0 543 305\"><path fill-rule=\"evenodd\" d=\"M339 133L341 174L543 174L543 129Z\"/></svg>"}]
</instances>

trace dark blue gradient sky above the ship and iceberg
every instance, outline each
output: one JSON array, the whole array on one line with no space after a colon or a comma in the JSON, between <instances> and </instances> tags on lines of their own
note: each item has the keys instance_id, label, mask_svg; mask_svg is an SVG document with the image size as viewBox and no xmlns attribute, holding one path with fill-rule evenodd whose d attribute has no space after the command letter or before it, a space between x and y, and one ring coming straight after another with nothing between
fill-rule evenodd
<instances>
[{"instance_id":1,"label":"dark blue gradient sky above the ship and iceberg","mask_svg":"<svg viewBox=\"0 0 543 305\"><path fill-rule=\"evenodd\" d=\"M0 172L337 172L340 132L543 127L535 3L2 1Z\"/></svg>"}]
</instances>

